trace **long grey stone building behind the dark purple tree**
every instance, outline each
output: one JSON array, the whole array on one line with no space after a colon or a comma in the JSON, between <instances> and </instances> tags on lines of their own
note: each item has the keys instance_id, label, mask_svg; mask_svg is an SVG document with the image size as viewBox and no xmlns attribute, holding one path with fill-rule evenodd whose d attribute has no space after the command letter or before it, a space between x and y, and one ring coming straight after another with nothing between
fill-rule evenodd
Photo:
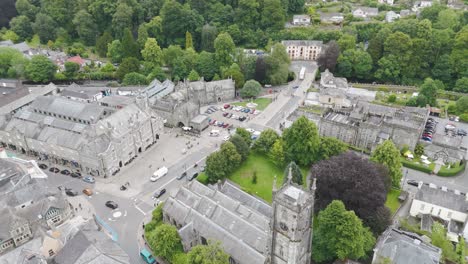
<instances>
[{"instance_id":1,"label":"long grey stone building behind the dark purple tree","mask_svg":"<svg viewBox=\"0 0 468 264\"><path fill-rule=\"evenodd\" d=\"M428 116L425 108L394 108L358 101L348 108L327 109L320 118L319 132L367 150L387 139L399 148L414 148Z\"/></svg>"}]
</instances>

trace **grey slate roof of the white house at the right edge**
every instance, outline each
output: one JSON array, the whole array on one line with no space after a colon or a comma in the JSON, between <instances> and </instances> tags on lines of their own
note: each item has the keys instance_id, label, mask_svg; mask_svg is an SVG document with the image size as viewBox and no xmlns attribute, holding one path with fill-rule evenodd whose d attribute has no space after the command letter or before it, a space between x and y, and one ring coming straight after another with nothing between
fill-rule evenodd
<instances>
[{"instance_id":1,"label":"grey slate roof of the white house at the right edge","mask_svg":"<svg viewBox=\"0 0 468 264\"><path fill-rule=\"evenodd\" d=\"M414 199L462 213L468 211L468 202L464 195L443 191L439 188L431 188L427 185L421 186Z\"/></svg>"}]
</instances>

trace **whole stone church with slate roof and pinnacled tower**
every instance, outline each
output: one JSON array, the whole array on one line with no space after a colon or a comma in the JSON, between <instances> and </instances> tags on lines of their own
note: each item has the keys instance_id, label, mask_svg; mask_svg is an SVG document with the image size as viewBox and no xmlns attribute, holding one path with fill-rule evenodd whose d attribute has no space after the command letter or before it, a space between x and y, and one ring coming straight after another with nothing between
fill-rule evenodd
<instances>
[{"instance_id":1,"label":"whole stone church with slate roof and pinnacled tower","mask_svg":"<svg viewBox=\"0 0 468 264\"><path fill-rule=\"evenodd\" d=\"M163 219L177 227L186 251L219 241L233 264L309 264L315 183L307 191L288 180L273 203L225 181L193 181L169 197Z\"/></svg>"}]
</instances>

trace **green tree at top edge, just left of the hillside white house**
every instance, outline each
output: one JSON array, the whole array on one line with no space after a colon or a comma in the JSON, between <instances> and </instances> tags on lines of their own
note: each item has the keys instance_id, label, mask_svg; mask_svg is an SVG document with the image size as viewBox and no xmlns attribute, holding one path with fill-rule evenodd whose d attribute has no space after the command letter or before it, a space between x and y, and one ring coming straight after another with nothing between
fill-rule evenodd
<instances>
[{"instance_id":1,"label":"green tree at top edge, just left of the hillside white house","mask_svg":"<svg viewBox=\"0 0 468 264\"><path fill-rule=\"evenodd\" d=\"M286 21L280 0L265 0L261 12L260 25L263 30L281 30Z\"/></svg>"}]
</instances>

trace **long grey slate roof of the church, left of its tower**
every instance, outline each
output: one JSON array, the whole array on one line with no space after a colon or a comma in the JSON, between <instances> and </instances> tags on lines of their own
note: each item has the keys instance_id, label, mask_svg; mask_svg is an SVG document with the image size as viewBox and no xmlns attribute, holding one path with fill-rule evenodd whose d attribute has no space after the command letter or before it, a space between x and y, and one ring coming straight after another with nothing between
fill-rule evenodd
<instances>
[{"instance_id":1,"label":"long grey slate roof of the church, left of its tower","mask_svg":"<svg viewBox=\"0 0 468 264\"><path fill-rule=\"evenodd\" d=\"M221 241L234 259L263 263L269 233L269 217L264 213L271 213L271 207L254 197L238 195L234 187L223 190L190 182L167 199L164 214L184 226L180 229L182 238L192 236L194 230L207 239Z\"/></svg>"}]
</instances>

